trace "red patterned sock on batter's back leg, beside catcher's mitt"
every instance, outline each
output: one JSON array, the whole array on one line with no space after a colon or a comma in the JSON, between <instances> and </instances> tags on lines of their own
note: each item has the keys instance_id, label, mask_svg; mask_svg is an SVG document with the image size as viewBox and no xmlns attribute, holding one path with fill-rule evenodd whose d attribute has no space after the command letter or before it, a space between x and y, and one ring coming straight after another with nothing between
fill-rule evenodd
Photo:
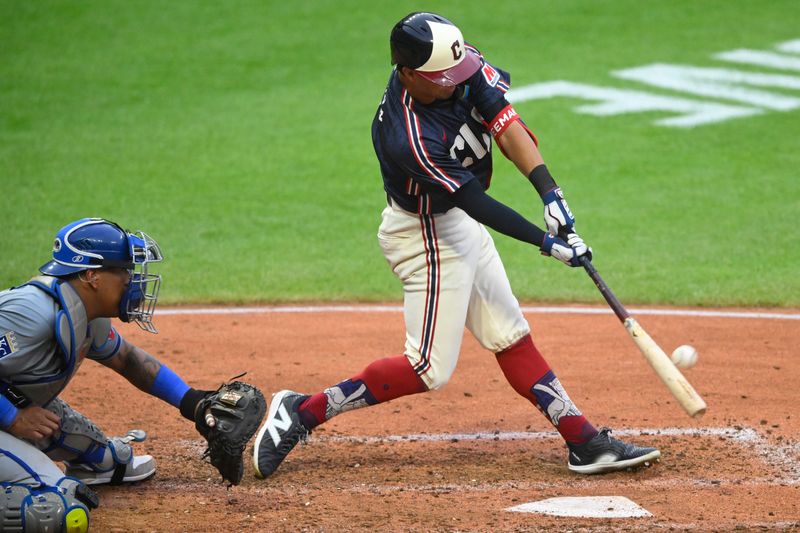
<instances>
[{"instance_id":1,"label":"red patterned sock on batter's back leg, beside catcher's mitt","mask_svg":"<svg viewBox=\"0 0 800 533\"><path fill-rule=\"evenodd\" d=\"M378 359L350 379L312 395L300 404L300 418L308 429L345 411L425 392L428 387L405 355Z\"/></svg>"}]
</instances>

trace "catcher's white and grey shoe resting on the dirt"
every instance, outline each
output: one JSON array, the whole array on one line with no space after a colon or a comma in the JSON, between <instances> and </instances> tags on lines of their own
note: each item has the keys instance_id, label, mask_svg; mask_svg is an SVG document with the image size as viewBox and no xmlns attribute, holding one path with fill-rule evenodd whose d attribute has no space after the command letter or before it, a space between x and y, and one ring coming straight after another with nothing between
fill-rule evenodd
<instances>
[{"instance_id":1,"label":"catcher's white and grey shoe resting on the dirt","mask_svg":"<svg viewBox=\"0 0 800 533\"><path fill-rule=\"evenodd\" d=\"M132 429L124 437L108 439L103 460L99 463L64 461L68 477L86 485L133 483L156 473L156 460L150 455L134 455L130 442L141 442L147 435Z\"/></svg>"}]
</instances>

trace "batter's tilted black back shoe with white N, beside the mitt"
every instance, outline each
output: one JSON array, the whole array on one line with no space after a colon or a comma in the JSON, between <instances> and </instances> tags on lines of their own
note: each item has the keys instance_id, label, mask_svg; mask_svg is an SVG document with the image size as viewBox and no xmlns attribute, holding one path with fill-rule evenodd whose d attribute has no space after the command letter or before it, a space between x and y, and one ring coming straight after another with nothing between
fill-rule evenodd
<instances>
[{"instance_id":1,"label":"batter's tilted black back shoe with white N, beside the mitt","mask_svg":"<svg viewBox=\"0 0 800 533\"><path fill-rule=\"evenodd\" d=\"M301 440L305 442L310 430L300 422L298 408L308 398L290 390L282 390L272 396L267 419L258 430L253 446L253 465L256 476L272 475L286 455Z\"/></svg>"}]
</instances>

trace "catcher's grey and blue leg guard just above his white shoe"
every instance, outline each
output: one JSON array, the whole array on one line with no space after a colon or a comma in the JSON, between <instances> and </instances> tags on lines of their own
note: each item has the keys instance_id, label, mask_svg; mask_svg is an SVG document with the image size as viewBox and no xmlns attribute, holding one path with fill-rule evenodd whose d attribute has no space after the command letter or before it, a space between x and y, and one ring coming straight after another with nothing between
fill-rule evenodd
<instances>
[{"instance_id":1,"label":"catcher's grey and blue leg guard just above his white shoe","mask_svg":"<svg viewBox=\"0 0 800 533\"><path fill-rule=\"evenodd\" d=\"M100 462L106 454L108 438L94 423L60 398L47 409L61 419L59 430L34 443L54 461Z\"/></svg>"}]
</instances>

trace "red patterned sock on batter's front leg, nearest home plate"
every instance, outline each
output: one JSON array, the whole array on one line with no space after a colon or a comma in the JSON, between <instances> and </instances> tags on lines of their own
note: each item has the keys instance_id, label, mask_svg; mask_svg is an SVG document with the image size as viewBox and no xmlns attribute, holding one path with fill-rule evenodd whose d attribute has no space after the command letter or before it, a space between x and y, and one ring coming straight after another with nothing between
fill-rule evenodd
<instances>
[{"instance_id":1,"label":"red patterned sock on batter's front leg, nearest home plate","mask_svg":"<svg viewBox=\"0 0 800 533\"><path fill-rule=\"evenodd\" d=\"M547 416L565 441L582 444L597 434L569 399L530 335L496 355L514 390Z\"/></svg>"}]
</instances>

